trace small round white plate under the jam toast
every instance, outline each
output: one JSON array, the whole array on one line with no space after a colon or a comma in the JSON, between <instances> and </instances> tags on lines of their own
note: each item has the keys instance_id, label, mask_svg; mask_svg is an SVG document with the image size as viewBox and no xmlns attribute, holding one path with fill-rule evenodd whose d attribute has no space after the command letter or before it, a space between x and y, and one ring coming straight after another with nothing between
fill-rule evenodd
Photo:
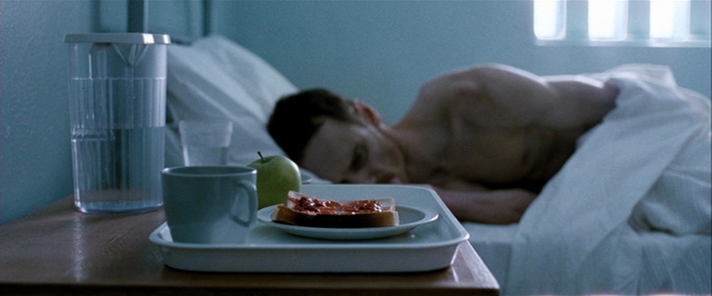
<instances>
[{"instance_id":1,"label":"small round white plate under the jam toast","mask_svg":"<svg viewBox=\"0 0 712 296\"><path fill-rule=\"evenodd\" d=\"M427 223L437 220L438 213L427 208L416 208L413 206L396 206L400 224L397 226L371 227L371 228L323 228L294 226L284 223L273 222L277 206L268 206L257 212L257 218L262 223L281 231L291 233L296 236L307 238L322 238L328 240L365 240L372 238L386 238L407 233Z\"/></svg>"}]
</instances>

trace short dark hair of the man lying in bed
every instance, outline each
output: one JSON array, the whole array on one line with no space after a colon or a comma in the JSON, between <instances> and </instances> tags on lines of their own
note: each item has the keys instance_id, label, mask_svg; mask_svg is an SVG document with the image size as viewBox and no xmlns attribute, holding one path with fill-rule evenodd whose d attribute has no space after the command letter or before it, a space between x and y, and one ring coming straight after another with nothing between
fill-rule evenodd
<instances>
[{"instance_id":1,"label":"short dark hair of the man lying in bed","mask_svg":"<svg viewBox=\"0 0 712 296\"><path fill-rule=\"evenodd\" d=\"M304 148L324 121L360 122L352 112L353 103L330 90L315 88L278 100L267 130L294 162L304 157Z\"/></svg>"}]
</instances>

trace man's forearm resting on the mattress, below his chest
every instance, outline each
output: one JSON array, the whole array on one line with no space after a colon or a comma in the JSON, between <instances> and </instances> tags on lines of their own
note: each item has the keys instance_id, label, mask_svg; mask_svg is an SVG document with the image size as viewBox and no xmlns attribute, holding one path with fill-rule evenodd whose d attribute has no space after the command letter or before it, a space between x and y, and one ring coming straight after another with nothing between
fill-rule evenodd
<instances>
[{"instance_id":1,"label":"man's forearm resting on the mattress, below his chest","mask_svg":"<svg viewBox=\"0 0 712 296\"><path fill-rule=\"evenodd\" d=\"M536 198L523 189L455 191L435 188L452 213L461 221L478 223L518 223Z\"/></svg>"}]
</instances>

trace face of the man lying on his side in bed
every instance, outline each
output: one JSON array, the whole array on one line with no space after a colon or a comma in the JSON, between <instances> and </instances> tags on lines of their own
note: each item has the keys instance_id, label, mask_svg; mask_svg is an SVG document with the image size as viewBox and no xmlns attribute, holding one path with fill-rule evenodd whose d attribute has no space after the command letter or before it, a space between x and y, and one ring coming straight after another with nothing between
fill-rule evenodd
<instances>
[{"instance_id":1,"label":"face of the man lying on his side in bed","mask_svg":"<svg viewBox=\"0 0 712 296\"><path fill-rule=\"evenodd\" d=\"M374 125L325 120L300 165L337 183L407 183L403 155Z\"/></svg>"}]
</instances>

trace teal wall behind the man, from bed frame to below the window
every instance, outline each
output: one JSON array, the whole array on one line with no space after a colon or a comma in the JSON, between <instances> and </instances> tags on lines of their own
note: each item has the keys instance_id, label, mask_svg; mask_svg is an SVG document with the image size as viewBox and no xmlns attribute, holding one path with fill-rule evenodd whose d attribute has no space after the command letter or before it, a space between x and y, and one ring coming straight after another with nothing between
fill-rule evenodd
<instances>
[{"instance_id":1,"label":"teal wall behind the man, from bed frame to below the window","mask_svg":"<svg viewBox=\"0 0 712 296\"><path fill-rule=\"evenodd\" d=\"M325 86L397 122L422 83L506 63L540 75L671 65L710 95L710 48L536 46L532 1L216 1L214 31L256 51L300 88Z\"/></svg>"}]
</instances>

